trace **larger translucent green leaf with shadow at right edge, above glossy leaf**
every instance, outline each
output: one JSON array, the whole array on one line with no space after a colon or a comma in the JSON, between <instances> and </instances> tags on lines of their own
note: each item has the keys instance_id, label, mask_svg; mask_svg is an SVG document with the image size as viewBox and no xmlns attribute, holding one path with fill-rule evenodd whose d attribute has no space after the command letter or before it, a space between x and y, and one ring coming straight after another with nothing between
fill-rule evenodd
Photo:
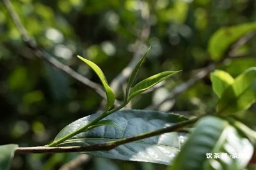
<instances>
[{"instance_id":1,"label":"larger translucent green leaf with shadow at right edge, above glossy leaf","mask_svg":"<svg viewBox=\"0 0 256 170\"><path fill-rule=\"evenodd\" d=\"M223 92L217 111L232 114L248 109L256 99L256 67L251 67L237 76L232 85Z\"/></svg>"}]
</instances>

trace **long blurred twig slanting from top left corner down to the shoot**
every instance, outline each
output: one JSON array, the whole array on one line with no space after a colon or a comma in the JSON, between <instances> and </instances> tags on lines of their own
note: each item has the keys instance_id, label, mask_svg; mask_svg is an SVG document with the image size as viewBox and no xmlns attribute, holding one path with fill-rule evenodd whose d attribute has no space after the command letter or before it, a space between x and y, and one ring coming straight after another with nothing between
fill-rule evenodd
<instances>
[{"instance_id":1,"label":"long blurred twig slanting from top left corner down to the shoot","mask_svg":"<svg viewBox=\"0 0 256 170\"><path fill-rule=\"evenodd\" d=\"M12 18L15 26L17 27L18 31L20 32L20 34L22 36L22 40L24 41L24 43L26 43L26 45L29 48L31 48L33 50L33 52L35 53L35 55L37 57L44 59L45 61L49 62L49 64L51 64L52 66L60 69L64 73L67 73L69 76L72 76L72 78L80 81L81 83L83 83L84 85L87 85L88 87L91 87L93 90L95 90L95 92L97 92L100 96L102 96L104 99L106 99L106 94L105 94L104 90L102 90L101 85L94 83L93 81L89 80L88 78L77 73L76 71L74 71L74 69L63 64L62 62L60 62L59 60L54 58L51 54L46 52L44 49L40 48L37 45L36 41L33 38L29 37L28 32L26 31L24 25L20 21L19 16L17 15L16 11L13 9L13 6L12 6L12 3L10 2L10 0L3 0L3 3L4 3L4 6L6 7L6 10L10 14L10 17ZM115 104L119 104L119 102L116 101Z\"/></svg>"}]
</instances>

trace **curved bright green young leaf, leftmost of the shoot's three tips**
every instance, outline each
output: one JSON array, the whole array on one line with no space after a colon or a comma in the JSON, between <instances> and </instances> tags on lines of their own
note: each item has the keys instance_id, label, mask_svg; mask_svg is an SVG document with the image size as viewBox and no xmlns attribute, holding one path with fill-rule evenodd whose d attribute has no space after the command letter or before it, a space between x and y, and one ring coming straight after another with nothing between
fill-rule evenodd
<instances>
[{"instance_id":1,"label":"curved bright green young leaf, leftmost of the shoot's three tips","mask_svg":"<svg viewBox=\"0 0 256 170\"><path fill-rule=\"evenodd\" d=\"M83 60L83 62L85 62L86 64L88 64L88 66L90 66L93 69L93 71L95 71L95 73L99 76L100 81L102 82L102 85L106 92L107 99L108 99L108 105L107 105L106 110L109 110L109 108L111 108L113 106L113 104L115 103L115 94L114 94L113 90L111 89L111 87L109 87L108 81L106 80L104 73L102 72L100 67L97 66L96 64L94 64L92 61L84 59L83 57L81 57L79 55L77 55L77 57L79 59Z\"/></svg>"}]
</instances>

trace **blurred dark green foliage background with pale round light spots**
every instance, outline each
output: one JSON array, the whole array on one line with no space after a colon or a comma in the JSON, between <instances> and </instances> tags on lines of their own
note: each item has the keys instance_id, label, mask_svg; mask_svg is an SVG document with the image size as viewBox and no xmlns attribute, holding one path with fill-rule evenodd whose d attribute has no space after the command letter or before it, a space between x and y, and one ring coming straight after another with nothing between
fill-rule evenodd
<instances>
[{"instance_id":1,"label":"blurred dark green foliage background with pale round light spots","mask_svg":"<svg viewBox=\"0 0 256 170\"><path fill-rule=\"evenodd\" d=\"M182 82L212 63L211 35L220 27L255 22L253 0L15 0L30 36L52 56L96 83L99 79L76 55L95 62L111 83L136 56L152 46L138 81L166 70L182 70L161 87L132 100L129 108L156 106ZM250 52L250 39L239 52ZM243 63L243 64L241 64ZM256 66L250 57L218 68L232 76ZM122 83L125 85L125 82ZM122 86L115 89L122 101ZM157 110L184 115L212 113L218 103L207 76ZM0 145L45 145L65 125L102 109L95 90L36 57L0 2ZM77 153L15 155L12 169L58 169ZM165 169L144 162L93 157L81 169Z\"/></svg>"}]
</instances>

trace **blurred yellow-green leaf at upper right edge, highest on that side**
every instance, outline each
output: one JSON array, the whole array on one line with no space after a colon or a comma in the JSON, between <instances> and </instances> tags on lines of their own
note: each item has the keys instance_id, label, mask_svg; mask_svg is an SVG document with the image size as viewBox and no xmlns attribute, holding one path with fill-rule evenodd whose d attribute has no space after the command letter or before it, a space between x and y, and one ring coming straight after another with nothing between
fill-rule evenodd
<instances>
[{"instance_id":1,"label":"blurred yellow-green leaf at upper right edge, highest on that side","mask_svg":"<svg viewBox=\"0 0 256 170\"><path fill-rule=\"evenodd\" d=\"M228 47L250 31L256 31L256 23L246 23L218 29L209 40L208 52L213 60L220 60Z\"/></svg>"}]
</instances>

